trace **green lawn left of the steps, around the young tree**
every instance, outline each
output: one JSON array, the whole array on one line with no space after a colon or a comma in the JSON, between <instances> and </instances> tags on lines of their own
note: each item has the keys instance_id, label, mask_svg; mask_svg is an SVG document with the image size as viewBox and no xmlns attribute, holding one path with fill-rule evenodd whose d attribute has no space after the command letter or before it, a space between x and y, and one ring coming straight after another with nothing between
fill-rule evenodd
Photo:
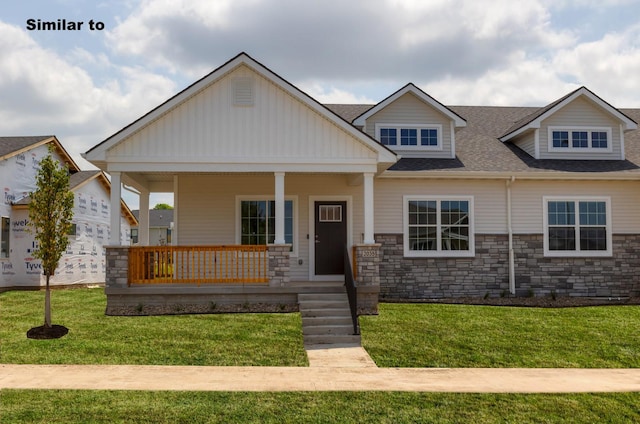
<instances>
[{"instance_id":1,"label":"green lawn left of the steps, around the young tree","mask_svg":"<svg viewBox=\"0 0 640 424\"><path fill-rule=\"evenodd\" d=\"M27 339L44 320L44 292L0 294L0 363L306 366L300 315L105 316L102 289L54 290L57 340Z\"/></svg>"}]
</instances>

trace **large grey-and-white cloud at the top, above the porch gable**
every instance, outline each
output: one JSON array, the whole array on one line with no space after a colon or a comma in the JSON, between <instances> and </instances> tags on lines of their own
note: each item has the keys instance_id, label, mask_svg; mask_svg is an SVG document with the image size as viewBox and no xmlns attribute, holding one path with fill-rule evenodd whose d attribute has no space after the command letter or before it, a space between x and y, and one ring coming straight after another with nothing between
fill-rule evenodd
<instances>
[{"instance_id":1,"label":"large grey-and-white cloud at the top, above the porch gable","mask_svg":"<svg viewBox=\"0 0 640 424\"><path fill-rule=\"evenodd\" d=\"M191 77L246 51L293 81L473 77L520 50L565 46L539 2L144 1L107 34L113 52Z\"/></svg>"}]
</instances>

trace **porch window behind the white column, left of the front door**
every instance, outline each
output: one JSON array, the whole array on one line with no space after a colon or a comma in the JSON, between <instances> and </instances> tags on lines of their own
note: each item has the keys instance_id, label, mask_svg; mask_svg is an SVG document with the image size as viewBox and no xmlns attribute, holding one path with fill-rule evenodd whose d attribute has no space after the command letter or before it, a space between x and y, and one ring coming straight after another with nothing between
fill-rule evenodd
<instances>
[{"instance_id":1,"label":"porch window behind the white column, left of the front door","mask_svg":"<svg viewBox=\"0 0 640 424\"><path fill-rule=\"evenodd\" d=\"M293 200L284 202L284 239L293 244ZM273 244L276 238L275 200L240 201L240 243Z\"/></svg>"}]
</instances>

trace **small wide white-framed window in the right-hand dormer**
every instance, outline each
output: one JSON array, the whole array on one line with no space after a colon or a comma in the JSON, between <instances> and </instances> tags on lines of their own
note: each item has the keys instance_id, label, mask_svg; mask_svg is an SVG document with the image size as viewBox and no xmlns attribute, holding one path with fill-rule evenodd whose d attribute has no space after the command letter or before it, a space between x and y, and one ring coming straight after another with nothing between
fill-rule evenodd
<instances>
[{"instance_id":1,"label":"small wide white-framed window in the right-hand dormer","mask_svg":"<svg viewBox=\"0 0 640 424\"><path fill-rule=\"evenodd\" d=\"M611 128L549 127L549 150L611 151Z\"/></svg>"}]
</instances>

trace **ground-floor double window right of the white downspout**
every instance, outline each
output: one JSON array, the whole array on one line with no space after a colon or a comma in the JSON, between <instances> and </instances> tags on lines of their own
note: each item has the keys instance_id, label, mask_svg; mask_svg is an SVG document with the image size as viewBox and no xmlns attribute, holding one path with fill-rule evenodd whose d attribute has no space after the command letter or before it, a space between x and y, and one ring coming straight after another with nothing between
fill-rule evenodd
<instances>
[{"instance_id":1,"label":"ground-floor double window right of the white downspout","mask_svg":"<svg viewBox=\"0 0 640 424\"><path fill-rule=\"evenodd\" d=\"M545 254L610 256L608 198L545 198Z\"/></svg>"}]
</instances>

